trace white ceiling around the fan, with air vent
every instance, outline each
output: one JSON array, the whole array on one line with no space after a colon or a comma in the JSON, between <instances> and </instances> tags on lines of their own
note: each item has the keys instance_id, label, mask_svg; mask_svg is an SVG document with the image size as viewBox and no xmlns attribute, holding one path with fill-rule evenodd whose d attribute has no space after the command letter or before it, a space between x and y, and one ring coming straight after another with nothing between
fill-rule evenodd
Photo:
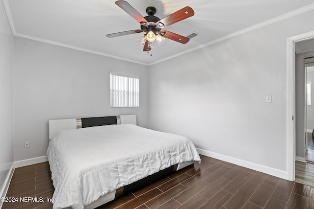
<instances>
[{"instance_id":1,"label":"white ceiling around the fan, with air vent","mask_svg":"<svg viewBox=\"0 0 314 209\"><path fill-rule=\"evenodd\" d=\"M106 34L140 29L115 0L2 0L13 35L59 46L151 65L208 46L250 28L310 9L314 0L127 0L142 16L146 7L160 19L190 6L195 15L165 29L183 36L200 35L183 45L166 39L152 56L143 52L144 33L116 38ZM253 26L253 27L252 27Z\"/></svg>"}]
</instances>

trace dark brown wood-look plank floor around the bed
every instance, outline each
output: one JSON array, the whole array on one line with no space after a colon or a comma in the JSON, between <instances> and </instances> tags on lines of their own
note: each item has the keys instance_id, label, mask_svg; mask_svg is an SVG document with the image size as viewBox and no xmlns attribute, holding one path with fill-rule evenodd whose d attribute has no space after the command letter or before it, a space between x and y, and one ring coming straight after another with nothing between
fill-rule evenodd
<instances>
[{"instance_id":1,"label":"dark brown wood-look plank floor around the bed","mask_svg":"<svg viewBox=\"0 0 314 209\"><path fill-rule=\"evenodd\" d=\"M201 165L194 163L98 209L314 209L314 187L201 158ZM50 209L53 190L48 163L16 168L6 197L27 197L26 202L4 202L2 209Z\"/></svg>"}]
</instances>

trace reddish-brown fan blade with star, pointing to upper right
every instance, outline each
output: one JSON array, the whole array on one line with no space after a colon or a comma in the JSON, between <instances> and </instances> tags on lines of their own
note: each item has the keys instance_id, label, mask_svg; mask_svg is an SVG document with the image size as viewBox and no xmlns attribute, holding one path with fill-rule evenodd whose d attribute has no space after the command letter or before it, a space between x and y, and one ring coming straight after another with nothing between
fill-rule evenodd
<instances>
[{"instance_id":1,"label":"reddish-brown fan blade with star, pointing to upper right","mask_svg":"<svg viewBox=\"0 0 314 209\"><path fill-rule=\"evenodd\" d=\"M182 21L186 18L192 17L194 15L194 11L191 7L186 6L179 11L176 11L175 13L172 13L171 15L168 15L167 17L161 19L158 21L159 23L163 23L165 27L177 23L179 21Z\"/></svg>"}]
</instances>

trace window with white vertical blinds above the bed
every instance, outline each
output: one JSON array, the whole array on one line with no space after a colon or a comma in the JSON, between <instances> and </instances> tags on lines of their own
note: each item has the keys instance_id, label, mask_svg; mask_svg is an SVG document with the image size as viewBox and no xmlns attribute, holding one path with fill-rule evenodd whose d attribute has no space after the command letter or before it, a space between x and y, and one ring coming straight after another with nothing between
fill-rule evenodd
<instances>
[{"instance_id":1,"label":"window with white vertical blinds above the bed","mask_svg":"<svg viewBox=\"0 0 314 209\"><path fill-rule=\"evenodd\" d=\"M110 107L139 107L139 78L110 73Z\"/></svg>"}]
</instances>

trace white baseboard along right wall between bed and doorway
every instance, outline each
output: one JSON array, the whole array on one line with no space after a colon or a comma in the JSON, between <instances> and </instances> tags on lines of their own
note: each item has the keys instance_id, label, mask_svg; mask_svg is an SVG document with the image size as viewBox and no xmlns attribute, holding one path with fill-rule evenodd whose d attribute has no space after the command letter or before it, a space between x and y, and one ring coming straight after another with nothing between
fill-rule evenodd
<instances>
[{"instance_id":1,"label":"white baseboard along right wall between bed and doorway","mask_svg":"<svg viewBox=\"0 0 314 209\"><path fill-rule=\"evenodd\" d=\"M218 153L214 153L214 152L210 152L204 149L199 149L196 148L199 154L211 157L211 158L215 158L221 161L225 161L228 163L233 163L236 165L240 165L246 168L250 168L252 170L256 170L256 171L260 171L262 173L266 173L272 176L276 176L282 179L286 179L288 180L288 172L284 171L284 170L279 170L279 169L275 169L275 168L271 168L271 167L267 167L264 165L260 165L257 163L252 163L252 162L248 162L248 161L243 161L240 159L236 159L230 156L226 156L226 155L222 155L222 154L218 154Z\"/></svg>"}]
</instances>

